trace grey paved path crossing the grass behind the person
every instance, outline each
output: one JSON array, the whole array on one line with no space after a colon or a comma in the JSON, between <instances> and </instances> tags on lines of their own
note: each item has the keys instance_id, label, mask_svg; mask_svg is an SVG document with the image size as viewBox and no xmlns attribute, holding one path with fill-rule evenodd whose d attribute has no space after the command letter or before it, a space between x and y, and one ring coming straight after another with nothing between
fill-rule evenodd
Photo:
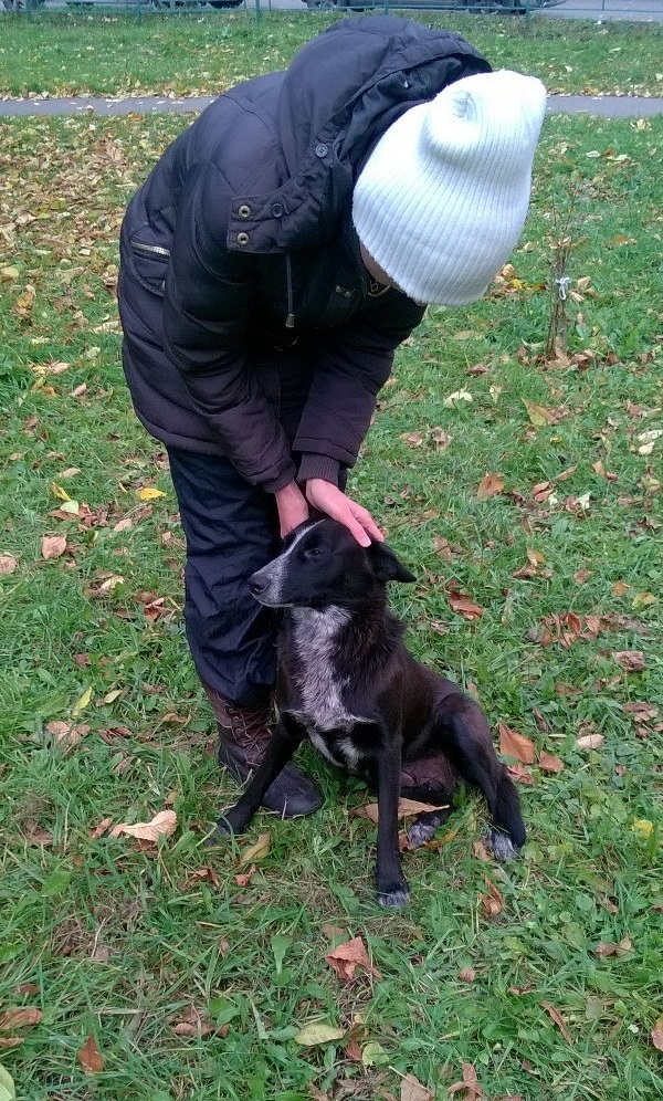
<instances>
[{"instance_id":1,"label":"grey paved path crossing the grass behind the person","mask_svg":"<svg viewBox=\"0 0 663 1101\"><path fill-rule=\"evenodd\" d=\"M28 98L0 99L0 116L17 115L150 115L170 112L177 115L197 114L215 96L129 96L119 98L97 98L94 96L71 96L64 99ZM654 96L548 96L548 111L552 114L576 114L586 112L603 118L643 118L645 115L663 115L663 98Z\"/></svg>"}]
</instances>

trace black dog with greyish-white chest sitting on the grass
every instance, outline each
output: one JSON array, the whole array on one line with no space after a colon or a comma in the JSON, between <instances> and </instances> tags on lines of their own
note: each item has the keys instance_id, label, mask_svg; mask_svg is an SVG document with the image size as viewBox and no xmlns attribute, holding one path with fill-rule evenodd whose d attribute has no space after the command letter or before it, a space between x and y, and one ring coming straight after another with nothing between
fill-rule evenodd
<instances>
[{"instance_id":1,"label":"black dog with greyish-white chest sitting on the grass","mask_svg":"<svg viewBox=\"0 0 663 1101\"><path fill-rule=\"evenodd\" d=\"M459 778L486 797L498 859L525 841L517 791L493 747L487 721L451 681L419 664L387 607L387 581L414 577L385 543L359 546L333 520L308 521L283 553L250 578L261 604L283 608L278 724L241 799L219 822L241 833L270 784L309 737L336 765L366 775L379 805L376 882L383 906L409 895L398 845L399 796L448 805ZM401 786L401 766L409 782ZM450 810L421 815L411 846L432 837Z\"/></svg>"}]
</instances>

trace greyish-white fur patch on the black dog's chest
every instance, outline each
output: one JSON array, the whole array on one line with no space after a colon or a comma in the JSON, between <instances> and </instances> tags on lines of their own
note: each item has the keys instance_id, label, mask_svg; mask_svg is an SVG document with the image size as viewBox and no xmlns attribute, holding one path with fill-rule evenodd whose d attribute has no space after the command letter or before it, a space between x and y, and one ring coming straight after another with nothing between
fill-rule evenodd
<instances>
[{"instance_id":1,"label":"greyish-white fur patch on the black dog's chest","mask_svg":"<svg viewBox=\"0 0 663 1101\"><path fill-rule=\"evenodd\" d=\"M351 714L343 701L343 690L348 678L339 678L334 668L334 650L339 632L348 623L350 612L345 608L295 608L294 648L297 658L295 683L302 704L294 712L304 723L314 745L334 764L354 767L359 754L350 738L327 741L325 732L350 731L356 723L367 722L361 715ZM340 753L341 761L334 754Z\"/></svg>"}]
</instances>

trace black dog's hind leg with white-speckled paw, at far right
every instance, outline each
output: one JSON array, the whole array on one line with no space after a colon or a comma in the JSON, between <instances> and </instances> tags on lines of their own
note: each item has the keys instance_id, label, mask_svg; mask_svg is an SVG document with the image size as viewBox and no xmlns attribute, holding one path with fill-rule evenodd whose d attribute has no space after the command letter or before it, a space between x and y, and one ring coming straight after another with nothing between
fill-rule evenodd
<instances>
[{"instance_id":1,"label":"black dog's hind leg with white-speckled paw, at far right","mask_svg":"<svg viewBox=\"0 0 663 1101\"><path fill-rule=\"evenodd\" d=\"M486 845L497 860L508 860L525 843L520 799L505 766L497 758L491 728L478 706L462 692L444 700L439 730L444 752L467 783L483 791L493 828Z\"/></svg>"}]
</instances>

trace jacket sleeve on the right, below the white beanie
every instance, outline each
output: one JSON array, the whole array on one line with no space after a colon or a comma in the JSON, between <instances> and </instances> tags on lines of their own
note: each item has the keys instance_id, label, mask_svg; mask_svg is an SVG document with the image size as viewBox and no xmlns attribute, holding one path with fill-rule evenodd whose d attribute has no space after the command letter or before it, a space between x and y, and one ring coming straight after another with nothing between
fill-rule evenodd
<instances>
[{"instance_id":1,"label":"jacket sleeve on the right, below the white beanie","mask_svg":"<svg viewBox=\"0 0 663 1101\"><path fill-rule=\"evenodd\" d=\"M355 464L394 350L424 312L425 306L390 292L379 305L330 332L293 442L293 451L301 453L299 481L336 482L340 466Z\"/></svg>"}]
</instances>

